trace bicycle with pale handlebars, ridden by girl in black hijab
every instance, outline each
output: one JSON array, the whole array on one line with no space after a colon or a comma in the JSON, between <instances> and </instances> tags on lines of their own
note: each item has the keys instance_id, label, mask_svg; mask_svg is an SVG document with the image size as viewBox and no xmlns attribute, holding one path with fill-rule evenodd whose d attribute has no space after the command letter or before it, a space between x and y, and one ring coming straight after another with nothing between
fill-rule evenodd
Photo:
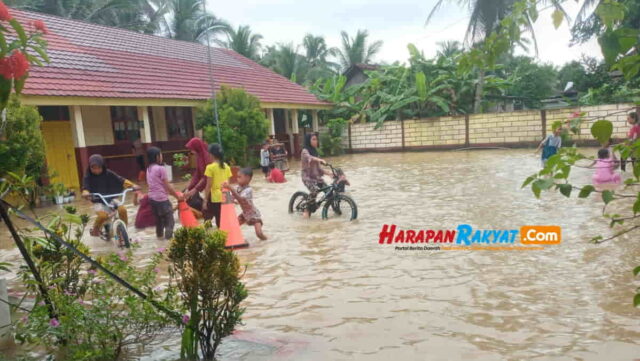
<instances>
[{"instance_id":1,"label":"bicycle with pale handlebars, ridden by girl in black hijab","mask_svg":"<svg viewBox=\"0 0 640 361\"><path fill-rule=\"evenodd\" d=\"M118 215L118 207L124 204L127 197L127 193L133 191L133 188L127 188L122 193L102 195L100 193L89 193L93 199L100 199L103 203L104 210L107 212L107 221L102 226L100 232L100 238L106 242L113 241L118 247L129 248L131 243L129 242L129 233L127 232L127 225ZM120 200L117 198L121 197Z\"/></svg>"}]
</instances>

